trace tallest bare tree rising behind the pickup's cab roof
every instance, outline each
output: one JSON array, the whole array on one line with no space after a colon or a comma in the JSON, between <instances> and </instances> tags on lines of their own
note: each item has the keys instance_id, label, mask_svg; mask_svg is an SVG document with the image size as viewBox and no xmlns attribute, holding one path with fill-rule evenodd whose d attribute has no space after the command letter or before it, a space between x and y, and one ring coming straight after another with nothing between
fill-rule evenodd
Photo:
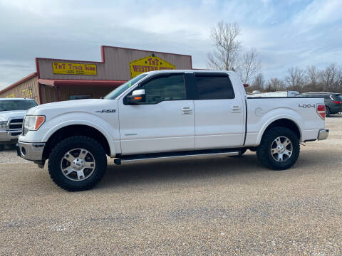
<instances>
[{"instance_id":1,"label":"tallest bare tree rising behind the pickup's cab roof","mask_svg":"<svg viewBox=\"0 0 342 256\"><path fill-rule=\"evenodd\" d=\"M212 27L210 39L214 50L207 53L208 68L217 70L235 70L237 68L241 43L237 40L241 30L237 23L219 21Z\"/></svg>"}]
</instances>

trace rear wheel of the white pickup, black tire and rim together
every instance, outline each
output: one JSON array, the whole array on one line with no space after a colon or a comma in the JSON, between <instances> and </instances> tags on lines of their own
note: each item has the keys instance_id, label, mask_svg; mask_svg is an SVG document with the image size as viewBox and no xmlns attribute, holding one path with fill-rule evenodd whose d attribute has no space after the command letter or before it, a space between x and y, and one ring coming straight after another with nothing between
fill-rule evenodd
<instances>
[{"instance_id":1,"label":"rear wheel of the white pickup, black tire and rim together","mask_svg":"<svg viewBox=\"0 0 342 256\"><path fill-rule=\"evenodd\" d=\"M257 147L261 164L274 170L289 169L299 157L299 138L285 127L274 127L266 131Z\"/></svg>"}]
</instances>

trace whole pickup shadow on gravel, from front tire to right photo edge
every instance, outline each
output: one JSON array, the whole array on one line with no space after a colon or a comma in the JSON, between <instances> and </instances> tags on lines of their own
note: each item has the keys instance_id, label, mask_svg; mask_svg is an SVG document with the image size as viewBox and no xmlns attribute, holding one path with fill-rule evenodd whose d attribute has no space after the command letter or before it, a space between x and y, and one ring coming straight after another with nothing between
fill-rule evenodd
<instances>
[{"instance_id":1,"label":"whole pickup shadow on gravel, from front tire to right photo edge","mask_svg":"<svg viewBox=\"0 0 342 256\"><path fill-rule=\"evenodd\" d=\"M192 181L205 183L213 179L231 181L232 177L239 180L245 174L251 179L270 175L273 178L284 178L284 176L295 178L299 173L321 172L324 166L336 165L340 161L339 151L325 151L325 154L322 154L314 149L301 151L296 164L285 171L267 169L259 163L257 155L253 153L237 158L221 156L207 159L140 161L124 163L121 166L111 164L113 160L110 160L103 181L95 189L137 185L164 186Z\"/></svg>"}]
</instances>

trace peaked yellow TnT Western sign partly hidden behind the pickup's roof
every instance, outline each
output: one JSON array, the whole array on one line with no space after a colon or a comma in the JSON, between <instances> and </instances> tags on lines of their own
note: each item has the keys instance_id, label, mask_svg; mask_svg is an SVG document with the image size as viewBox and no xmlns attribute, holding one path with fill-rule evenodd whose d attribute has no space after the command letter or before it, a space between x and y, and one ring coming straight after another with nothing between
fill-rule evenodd
<instances>
[{"instance_id":1,"label":"peaked yellow TnT Western sign partly hidden behind the pickup's roof","mask_svg":"<svg viewBox=\"0 0 342 256\"><path fill-rule=\"evenodd\" d=\"M137 75L148 71L174 69L176 69L175 65L172 65L152 54L145 58L141 58L140 60L130 62L130 78L135 78Z\"/></svg>"}]
</instances>

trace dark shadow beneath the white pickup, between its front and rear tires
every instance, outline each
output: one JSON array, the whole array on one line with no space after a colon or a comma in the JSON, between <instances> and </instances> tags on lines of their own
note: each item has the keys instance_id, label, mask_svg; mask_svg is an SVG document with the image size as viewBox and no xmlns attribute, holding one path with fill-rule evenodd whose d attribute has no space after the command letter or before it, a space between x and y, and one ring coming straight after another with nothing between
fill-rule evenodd
<instances>
[{"instance_id":1,"label":"dark shadow beneath the white pickup, between its front and rear tires","mask_svg":"<svg viewBox=\"0 0 342 256\"><path fill-rule=\"evenodd\" d=\"M113 163L113 160L111 160ZM172 159L110 164L98 187L122 185L124 183L165 183L190 181L197 178L227 176L237 173L265 171L255 154L241 158L228 156L207 159Z\"/></svg>"}]
</instances>

